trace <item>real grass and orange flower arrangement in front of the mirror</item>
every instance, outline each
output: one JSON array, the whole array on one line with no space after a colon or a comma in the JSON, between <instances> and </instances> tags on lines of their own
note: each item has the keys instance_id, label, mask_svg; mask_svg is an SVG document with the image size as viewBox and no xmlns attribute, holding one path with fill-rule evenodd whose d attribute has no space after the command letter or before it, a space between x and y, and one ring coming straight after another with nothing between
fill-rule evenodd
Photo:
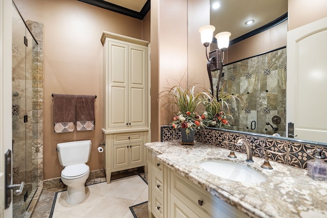
<instances>
[{"instance_id":1,"label":"real grass and orange flower arrangement in front of the mirror","mask_svg":"<svg viewBox=\"0 0 327 218\"><path fill-rule=\"evenodd\" d=\"M191 130L197 131L205 126L196 109L207 99L207 93L196 92L195 86L186 88L174 86L164 96L169 99L168 104L177 106L178 112L173 116L171 123L175 129L185 128L186 135L190 135Z\"/></svg>"}]
</instances>

